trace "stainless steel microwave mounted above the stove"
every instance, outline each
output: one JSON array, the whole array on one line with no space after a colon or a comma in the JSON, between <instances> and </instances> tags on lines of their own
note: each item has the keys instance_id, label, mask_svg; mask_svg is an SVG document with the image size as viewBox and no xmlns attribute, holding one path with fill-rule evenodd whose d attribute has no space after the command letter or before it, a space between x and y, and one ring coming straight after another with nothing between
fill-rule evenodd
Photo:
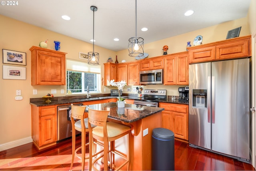
<instances>
[{"instance_id":1,"label":"stainless steel microwave mounted above the stove","mask_svg":"<svg viewBox=\"0 0 256 171\"><path fill-rule=\"evenodd\" d=\"M163 70L140 71L140 84L163 84Z\"/></svg>"}]
</instances>

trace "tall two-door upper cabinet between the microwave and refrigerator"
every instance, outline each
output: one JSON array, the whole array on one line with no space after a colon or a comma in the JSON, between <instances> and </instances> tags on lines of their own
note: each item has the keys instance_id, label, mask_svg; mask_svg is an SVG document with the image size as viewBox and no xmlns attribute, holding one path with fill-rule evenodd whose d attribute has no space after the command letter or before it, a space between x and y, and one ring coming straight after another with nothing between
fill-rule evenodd
<instances>
[{"instance_id":1,"label":"tall two-door upper cabinet between the microwave and refrigerator","mask_svg":"<svg viewBox=\"0 0 256 171\"><path fill-rule=\"evenodd\" d=\"M164 58L164 85L188 84L188 52L171 54Z\"/></svg>"}]
</instances>

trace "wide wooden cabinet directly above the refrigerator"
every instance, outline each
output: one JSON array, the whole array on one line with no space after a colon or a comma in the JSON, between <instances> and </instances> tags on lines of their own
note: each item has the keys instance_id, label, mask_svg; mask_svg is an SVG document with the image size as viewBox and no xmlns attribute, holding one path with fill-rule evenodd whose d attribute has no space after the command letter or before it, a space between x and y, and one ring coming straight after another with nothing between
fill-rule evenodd
<instances>
[{"instance_id":1,"label":"wide wooden cabinet directly above the refrigerator","mask_svg":"<svg viewBox=\"0 0 256 171\"><path fill-rule=\"evenodd\" d=\"M189 63L210 62L252 56L251 35L191 46Z\"/></svg>"}]
</instances>

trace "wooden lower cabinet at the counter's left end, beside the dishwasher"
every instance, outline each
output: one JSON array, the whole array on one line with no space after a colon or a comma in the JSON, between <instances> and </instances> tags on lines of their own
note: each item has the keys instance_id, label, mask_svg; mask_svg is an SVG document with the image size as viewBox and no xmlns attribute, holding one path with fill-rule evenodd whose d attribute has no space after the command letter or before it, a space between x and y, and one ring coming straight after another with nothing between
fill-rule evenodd
<instances>
[{"instance_id":1,"label":"wooden lower cabinet at the counter's left end, beside the dishwasher","mask_svg":"<svg viewBox=\"0 0 256 171\"><path fill-rule=\"evenodd\" d=\"M32 139L38 149L49 147L57 141L57 106L32 107Z\"/></svg>"}]
</instances>

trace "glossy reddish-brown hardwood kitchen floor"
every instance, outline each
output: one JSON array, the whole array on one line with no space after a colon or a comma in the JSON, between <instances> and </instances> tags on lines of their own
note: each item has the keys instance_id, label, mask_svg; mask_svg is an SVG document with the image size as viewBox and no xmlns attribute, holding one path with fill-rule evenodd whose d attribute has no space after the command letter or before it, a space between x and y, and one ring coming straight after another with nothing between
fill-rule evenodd
<instances>
[{"instance_id":1,"label":"glossy reddish-brown hardwood kitchen floor","mask_svg":"<svg viewBox=\"0 0 256 171\"><path fill-rule=\"evenodd\" d=\"M78 137L79 139L79 137ZM77 141L79 145L80 141ZM252 165L189 147L175 140L175 170L255 170ZM53 147L38 150L33 143L0 151L0 170L66 170L70 168L71 139ZM75 159L73 170L81 170L81 160ZM85 170L88 170L86 160Z\"/></svg>"}]
</instances>

